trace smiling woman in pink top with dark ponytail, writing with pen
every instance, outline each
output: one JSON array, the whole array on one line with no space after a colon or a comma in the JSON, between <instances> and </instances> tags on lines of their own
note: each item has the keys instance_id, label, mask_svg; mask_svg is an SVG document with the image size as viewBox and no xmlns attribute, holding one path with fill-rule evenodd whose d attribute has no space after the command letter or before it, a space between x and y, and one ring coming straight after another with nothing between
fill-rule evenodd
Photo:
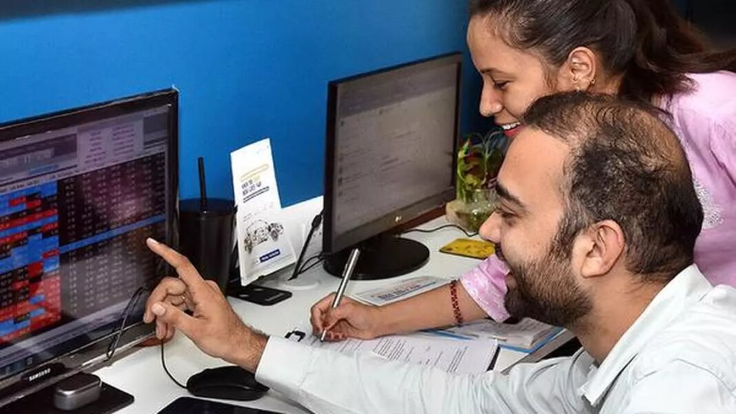
<instances>
[{"instance_id":1,"label":"smiling woman in pink top with dark ponytail, writing with pen","mask_svg":"<svg viewBox=\"0 0 736 414\"><path fill-rule=\"evenodd\" d=\"M484 82L481 114L509 138L535 100L564 90L659 107L704 209L695 262L714 285L736 286L736 51L708 49L668 0L471 0L467 43ZM503 321L507 273L494 255L459 282L384 307L344 300L329 311L322 299L311 322L316 332L335 324L329 335L341 339Z\"/></svg>"}]
</instances>

